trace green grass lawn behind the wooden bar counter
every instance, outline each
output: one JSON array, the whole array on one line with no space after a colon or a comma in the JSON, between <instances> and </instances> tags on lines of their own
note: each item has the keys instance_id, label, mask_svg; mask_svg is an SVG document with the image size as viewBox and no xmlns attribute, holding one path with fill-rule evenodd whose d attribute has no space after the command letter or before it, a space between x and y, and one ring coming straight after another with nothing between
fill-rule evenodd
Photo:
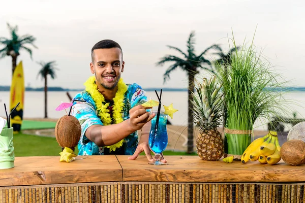
<instances>
[{"instance_id":1,"label":"green grass lawn behind the wooden bar counter","mask_svg":"<svg viewBox=\"0 0 305 203\"><path fill-rule=\"evenodd\" d=\"M61 148L55 138L32 136L29 134L14 134L15 156L59 156ZM75 153L78 153L76 147ZM164 151L166 155L197 155L186 152ZM145 155L144 152L141 155Z\"/></svg>"}]
</instances>

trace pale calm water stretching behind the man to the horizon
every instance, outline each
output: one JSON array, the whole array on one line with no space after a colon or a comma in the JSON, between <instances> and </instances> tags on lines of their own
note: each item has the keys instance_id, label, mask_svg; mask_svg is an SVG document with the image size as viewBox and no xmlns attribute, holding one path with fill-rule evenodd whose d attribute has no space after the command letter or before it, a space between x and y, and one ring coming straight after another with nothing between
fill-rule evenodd
<instances>
[{"instance_id":1,"label":"pale calm water stretching behind the man to the horizon","mask_svg":"<svg viewBox=\"0 0 305 203\"><path fill-rule=\"evenodd\" d=\"M73 97L78 92L70 91ZM147 91L146 95L151 99L158 100L154 91ZM5 117L4 103L9 105L10 101L9 91L0 91L0 116ZM283 115L292 118L293 112L297 113L297 118L305 117L305 92L287 92L285 99L290 102L286 104ZM69 98L65 91L50 91L48 92L48 117L60 118L66 114L65 111L55 111L55 108L60 103L69 102ZM188 125L188 92L187 91L164 91L162 93L162 108L163 105L169 106L173 103L173 107L178 109L173 115L173 119L168 117L168 120L174 125L187 126ZM157 110L157 107L154 108ZM69 111L69 110L67 110ZM24 97L24 118L43 118L44 117L44 92L43 91L26 91ZM264 120L257 120L255 123L257 129L267 129ZM286 126L289 127L289 126Z\"/></svg>"}]
</instances>

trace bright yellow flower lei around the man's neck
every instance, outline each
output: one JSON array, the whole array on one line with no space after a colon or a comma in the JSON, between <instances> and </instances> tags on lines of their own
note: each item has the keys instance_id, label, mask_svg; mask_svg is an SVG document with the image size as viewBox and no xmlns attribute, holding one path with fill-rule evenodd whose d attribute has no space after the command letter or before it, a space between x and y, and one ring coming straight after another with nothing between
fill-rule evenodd
<instances>
[{"instance_id":1,"label":"bright yellow flower lei around the man's neck","mask_svg":"<svg viewBox=\"0 0 305 203\"><path fill-rule=\"evenodd\" d=\"M98 90L98 85L95 83L95 77L90 77L85 83L86 91L91 95L93 100L95 101L97 110L98 110L98 116L101 118L103 125L110 125L111 124L111 117L108 109L109 103L106 103L105 105L103 102L105 102L105 98L103 94L101 94ZM123 79L120 78L117 83L117 92L115 93L115 97L113 98L113 120L114 122L120 123L123 122L124 119L121 116L121 112L123 111L124 107L124 94L127 91L127 85L123 82ZM124 139L119 141L118 143L106 146L109 148L109 151L115 151L116 148L119 148L123 146Z\"/></svg>"}]
</instances>

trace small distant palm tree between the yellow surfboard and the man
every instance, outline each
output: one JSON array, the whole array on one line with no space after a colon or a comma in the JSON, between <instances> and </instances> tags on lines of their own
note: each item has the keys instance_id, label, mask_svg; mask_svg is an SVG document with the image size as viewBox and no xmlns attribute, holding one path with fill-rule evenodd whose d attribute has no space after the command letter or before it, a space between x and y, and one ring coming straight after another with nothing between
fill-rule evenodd
<instances>
[{"instance_id":1,"label":"small distant palm tree between the yellow surfboard and the man","mask_svg":"<svg viewBox=\"0 0 305 203\"><path fill-rule=\"evenodd\" d=\"M47 115L47 91L48 91L48 85L47 85L47 79L48 75L51 76L52 79L56 78L55 75L55 70L58 70L55 68L55 62L56 61L50 61L50 62L37 62L38 64L41 65L41 70L38 72L37 77L41 76L41 79L45 80L45 87L44 87L44 92L45 92L45 118L48 118Z\"/></svg>"}]
</instances>

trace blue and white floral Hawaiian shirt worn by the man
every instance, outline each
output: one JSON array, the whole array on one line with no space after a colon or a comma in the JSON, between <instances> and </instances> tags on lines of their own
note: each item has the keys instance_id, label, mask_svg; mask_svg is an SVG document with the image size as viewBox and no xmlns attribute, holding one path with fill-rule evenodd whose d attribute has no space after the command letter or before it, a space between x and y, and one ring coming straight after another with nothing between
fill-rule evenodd
<instances>
[{"instance_id":1,"label":"blue and white floral Hawaiian shirt worn by the man","mask_svg":"<svg viewBox=\"0 0 305 203\"><path fill-rule=\"evenodd\" d=\"M129 119L130 109L147 101L145 91L141 88L141 86L137 85L136 83L127 84L127 86L128 89L124 98L125 105L123 112L121 112L124 120ZM75 116L81 124L81 137L78 142L78 155L103 155L105 150L104 147L97 146L85 136L85 132L88 127L92 125L103 125L100 117L98 116L95 101L86 91L78 93L73 99L84 101L74 101L74 105L72 107L72 115ZM138 132L133 132L124 140L125 142L122 146L124 147L124 154L132 155L138 146Z\"/></svg>"}]
</instances>

